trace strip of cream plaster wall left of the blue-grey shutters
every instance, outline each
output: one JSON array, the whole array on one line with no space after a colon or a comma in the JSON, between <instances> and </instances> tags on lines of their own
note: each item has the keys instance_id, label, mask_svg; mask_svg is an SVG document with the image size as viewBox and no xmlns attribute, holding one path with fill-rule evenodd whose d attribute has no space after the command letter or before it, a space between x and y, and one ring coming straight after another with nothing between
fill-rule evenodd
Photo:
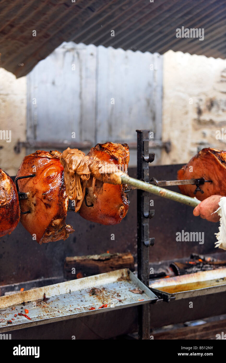
<instances>
[{"instance_id":1,"label":"strip of cream plaster wall left of the blue-grey shutters","mask_svg":"<svg viewBox=\"0 0 226 363\"><path fill-rule=\"evenodd\" d=\"M0 69L0 130L11 130L11 142L0 139L0 168L16 175L25 149L16 154L17 140L26 140L26 77Z\"/></svg>"}]
</instances>

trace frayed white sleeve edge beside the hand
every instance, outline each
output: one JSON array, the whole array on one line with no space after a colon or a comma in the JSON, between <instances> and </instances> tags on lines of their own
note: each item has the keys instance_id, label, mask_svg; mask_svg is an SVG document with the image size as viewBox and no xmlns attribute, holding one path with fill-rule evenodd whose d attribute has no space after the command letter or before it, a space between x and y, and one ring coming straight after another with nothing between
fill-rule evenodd
<instances>
[{"instance_id":1,"label":"frayed white sleeve edge beside the hand","mask_svg":"<svg viewBox=\"0 0 226 363\"><path fill-rule=\"evenodd\" d=\"M220 218L219 232L215 233L217 242L215 247L226 250L226 197L222 197L219 201L219 208L214 212L218 213Z\"/></svg>"}]
</instances>

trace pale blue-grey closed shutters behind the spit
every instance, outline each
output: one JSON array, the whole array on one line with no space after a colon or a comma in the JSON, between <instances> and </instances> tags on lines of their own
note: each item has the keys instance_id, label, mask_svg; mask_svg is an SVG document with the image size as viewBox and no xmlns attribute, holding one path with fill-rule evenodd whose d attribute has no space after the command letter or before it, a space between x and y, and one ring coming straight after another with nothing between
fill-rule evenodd
<instances>
[{"instance_id":1,"label":"pale blue-grey closed shutters behind the spit","mask_svg":"<svg viewBox=\"0 0 226 363\"><path fill-rule=\"evenodd\" d=\"M28 140L130 145L138 126L160 140L162 77L158 53L65 42L27 76Z\"/></svg>"}]
</instances>

